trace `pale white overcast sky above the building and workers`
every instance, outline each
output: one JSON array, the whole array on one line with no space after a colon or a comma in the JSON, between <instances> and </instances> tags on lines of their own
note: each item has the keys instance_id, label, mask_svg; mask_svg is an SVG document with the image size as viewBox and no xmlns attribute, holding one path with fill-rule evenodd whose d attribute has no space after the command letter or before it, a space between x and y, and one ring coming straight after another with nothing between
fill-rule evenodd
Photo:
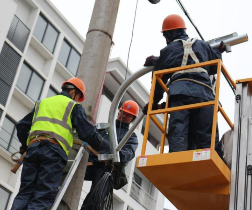
<instances>
[{"instance_id":1,"label":"pale white overcast sky above the building and workers","mask_svg":"<svg viewBox=\"0 0 252 210\"><path fill-rule=\"evenodd\" d=\"M210 40L233 32L252 35L251 0L181 0L204 39ZM89 21L95 0L51 0L66 19L86 38ZM110 58L120 57L127 63L127 55L132 35L134 12L137 0L121 0L113 40L115 46ZM164 18L178 14L185 20L187 34L198 37L196 30L188 21L176 0L161 0L159 4L150 4L148 0L139 0L134 29L133 42L129 56L129 69L132 72L142 68L146 57L159 55L166 42L160 33ZM223 53L223 63L234 80L251 78L252 42L233 46L231 53ZM140 81L147 90L151 86L151 75ZM235 97L221 78L220 101L231 121L234 118ZM221 115L218 118L220 135L229 129ZM176 209L168 203L166 208Z\"/></svg>"}]
</instances>

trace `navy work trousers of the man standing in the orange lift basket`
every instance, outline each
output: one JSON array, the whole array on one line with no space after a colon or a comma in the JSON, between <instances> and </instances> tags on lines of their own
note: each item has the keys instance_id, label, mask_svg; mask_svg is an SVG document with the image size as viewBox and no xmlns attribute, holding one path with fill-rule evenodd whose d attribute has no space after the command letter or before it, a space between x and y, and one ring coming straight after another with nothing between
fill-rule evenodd
<instances>
[{"instance_id":1,"label":"navy work trousers of the man standing in the orange lift basket","mask_svg":"<svg viewBox=\"0 0 252 210\"><path fill-rule=\"evenodd\" d=\"M170 107L183 106L205 102L202 98L186 95L173 95L169 98ZM169 152L179 152L193 149L210 148L213 106L189 109L170 114L168 142ZM216 130L215 149L219 155L219 132Z\"/></svg>"}]
</instances>

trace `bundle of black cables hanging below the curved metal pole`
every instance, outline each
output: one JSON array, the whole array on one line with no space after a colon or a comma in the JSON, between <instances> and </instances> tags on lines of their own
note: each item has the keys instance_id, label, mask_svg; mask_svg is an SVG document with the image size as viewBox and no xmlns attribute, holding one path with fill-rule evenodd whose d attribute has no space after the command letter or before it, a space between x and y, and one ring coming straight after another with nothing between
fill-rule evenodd
<instances>
[{"instance_id":1,"label":"bundle of black cables hanging below the curved metal pole","mask_svg":"<svg viewBox=\"0 0 252 210\"><path fill-rule=\"evenodd\" d=\"M92 202L95 205L92 210L113 210L113 176L111 172L105 172L93 193Z\"/></svg>"}]
</instances>

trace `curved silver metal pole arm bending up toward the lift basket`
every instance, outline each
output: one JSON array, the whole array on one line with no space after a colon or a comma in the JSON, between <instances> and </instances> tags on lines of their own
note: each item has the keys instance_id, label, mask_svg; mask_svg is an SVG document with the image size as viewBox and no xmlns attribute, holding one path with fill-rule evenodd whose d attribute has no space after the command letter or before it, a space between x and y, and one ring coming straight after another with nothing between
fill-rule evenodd
<instances>
[{"instance_id":1,"label":"curved silver metal pole arm bending up toward the lift basket","mask_svg":"<svg viewBox=\"0 0 252 210\"><path fill-rule=\"evenodd\" d=\"M111 146L111 151L113 154L113 161L114 162L120 162L120 157L118 154L117 149L117 135L116 135L116 126L115 126L115 120L116 120L116 111L117 111L117 107L124 95L124 93L126 92L126 90L128 89L128 87L135 81L137 80L139 77L149 73L152 70L152 66L151 67L143 67L140 70L138 70L137 72L135 72L134 74L132 74L128 79L126 79L122 85L119 87L119 89L117 90L116 94L114 95L110 110L109 110L109 124L110 124L110 128L109 128L109 140L110 140L110 146Z\"/></svg>"}]
</instances>

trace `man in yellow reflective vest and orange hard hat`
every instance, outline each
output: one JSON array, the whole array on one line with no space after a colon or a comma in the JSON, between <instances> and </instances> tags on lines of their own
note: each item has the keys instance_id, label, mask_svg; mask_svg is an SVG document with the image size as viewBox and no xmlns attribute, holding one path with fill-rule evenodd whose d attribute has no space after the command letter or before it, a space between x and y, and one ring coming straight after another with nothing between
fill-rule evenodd
<instances>
[{"instance_id":1,"label":"man in yellow reflective vest and orange hard hat","mask_svg":"<svg viewBox=\"0 0 252 210\"><path fill-rule=\"evenodd\" d=\"M52 206L73 145L73 129L79 139L93 148L102 143L102 136L77 103L84 100L85 90L81 79L71 78L62 84L59 95L37 101L32 111L17 123L20 153L27 153L12 210L44 210Z\"/></svg>"}]
</instances>

